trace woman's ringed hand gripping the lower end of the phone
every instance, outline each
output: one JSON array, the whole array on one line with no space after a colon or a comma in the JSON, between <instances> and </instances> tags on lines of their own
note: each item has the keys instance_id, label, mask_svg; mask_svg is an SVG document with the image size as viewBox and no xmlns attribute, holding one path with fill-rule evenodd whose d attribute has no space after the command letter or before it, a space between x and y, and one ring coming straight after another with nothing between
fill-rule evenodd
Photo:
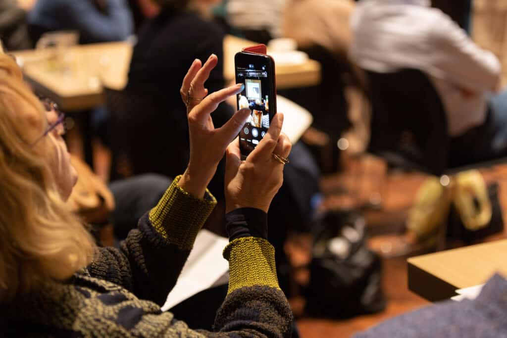
<instances>
[{"instance_id":1,"label":"woman's ringed hand gripping the lower end of the phone","mask_svg":"<svg viewBox=\"0 0 507 338\"><path fill-rule=\"evenodd\" d=\"M283 183L283 164L273 154L287 158L292 144L281 133L283 115L276 114L266 136L241 161L236 138L227 147L225 172L226 212L239 208L256 208L268 212L273 197Z\"/></svg>"}]
</instances>

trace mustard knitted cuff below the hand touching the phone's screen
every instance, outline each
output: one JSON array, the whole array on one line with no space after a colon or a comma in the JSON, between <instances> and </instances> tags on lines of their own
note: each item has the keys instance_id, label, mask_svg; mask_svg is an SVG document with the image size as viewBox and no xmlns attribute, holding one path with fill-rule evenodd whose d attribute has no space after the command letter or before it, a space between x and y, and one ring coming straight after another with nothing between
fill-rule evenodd
<instances>
[{"instance_id":1,"label":"mustard knitted cuff below the hand touching the phone's screen","mask_svg":"<svg viewBox=\"0 0 507 338\"><path fill-rule=\"evenodd\" d=\"M204 199L193 197L178 186L181 177L174 178L149 217L153 227L170 244L190 250L216 200L208 190Z\"/></svg>"}]
</instances>

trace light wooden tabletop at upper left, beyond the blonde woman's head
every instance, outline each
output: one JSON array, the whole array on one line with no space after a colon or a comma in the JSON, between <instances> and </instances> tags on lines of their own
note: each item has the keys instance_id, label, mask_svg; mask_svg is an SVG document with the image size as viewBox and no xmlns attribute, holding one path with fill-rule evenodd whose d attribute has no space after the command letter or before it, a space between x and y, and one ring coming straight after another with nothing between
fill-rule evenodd
<instances>
[{"instance_id":1,"label":"light wooden tabletop at upper left, beyond the blonde woman's head","mask_svg":"<svg viewBox=\"0 0 507 338\"><path fill-rule=\"evenodd\" d=\"M120 86L124 82L131 54L132 47L123 42L14 53L34 90L65 111L100 105L102 84Z\"/></svg>"}]
</instances>

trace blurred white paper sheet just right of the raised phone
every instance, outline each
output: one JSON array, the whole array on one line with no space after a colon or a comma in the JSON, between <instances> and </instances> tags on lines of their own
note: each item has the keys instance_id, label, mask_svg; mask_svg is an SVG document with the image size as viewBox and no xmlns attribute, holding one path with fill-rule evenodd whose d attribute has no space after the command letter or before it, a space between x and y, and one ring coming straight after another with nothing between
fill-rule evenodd
<instances>
[{"instance_id":1,"label":"blurred white paper sheet just right of the raised phone","mask_svg":"<svg viewBox=\"0 0 507 338\"><path fill-rule=\"evenodd\" d=\"M276 96L276 111L283 113L282 131L293 144L313 122L313 117L308 110L280 95Z\"/></svg>"}]
</instances>

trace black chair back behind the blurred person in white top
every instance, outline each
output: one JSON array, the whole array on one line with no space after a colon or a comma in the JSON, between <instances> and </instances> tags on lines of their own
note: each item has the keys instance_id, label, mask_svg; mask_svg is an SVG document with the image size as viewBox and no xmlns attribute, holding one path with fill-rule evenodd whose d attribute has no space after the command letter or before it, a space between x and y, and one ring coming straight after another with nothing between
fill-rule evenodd
<instances>
[{"instance_id":1,"label":"black chair back behind the blurred person in white top","mask_svg":"<svg viewBox=\"0 0 507 338\"><path fill-rule=\"evenodd\" d=\"M373 108L369 152L390 166L443 174L449 165L447 116L427 76L417 69L366 73Z\"/></svg>"}]
</instances>

